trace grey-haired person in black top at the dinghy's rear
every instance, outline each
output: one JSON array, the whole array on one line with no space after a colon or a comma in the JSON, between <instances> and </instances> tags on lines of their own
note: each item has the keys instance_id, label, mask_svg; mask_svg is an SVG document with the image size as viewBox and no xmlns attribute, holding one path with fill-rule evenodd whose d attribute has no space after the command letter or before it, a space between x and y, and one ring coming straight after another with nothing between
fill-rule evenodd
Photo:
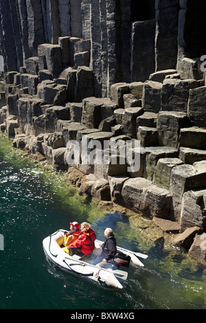
<instances>
[{"instance_id":1,"label":"grey-haired person in black top at the dinghy's rear","mask_svg":"<svg viewBox=\"0 0 206 323\"><path fill-rule=\"evenodd\" d=\"M98 264L100 267L106 267L107 263L113 264L115 254L117 253L116 238L113 230L110 227L106 227L104 230L104 236L106 240L104 243L100 244L100 247L102 247L102 254L100 255L100 260L102 260L102 263Z\"/></svg>"}]
</instances>

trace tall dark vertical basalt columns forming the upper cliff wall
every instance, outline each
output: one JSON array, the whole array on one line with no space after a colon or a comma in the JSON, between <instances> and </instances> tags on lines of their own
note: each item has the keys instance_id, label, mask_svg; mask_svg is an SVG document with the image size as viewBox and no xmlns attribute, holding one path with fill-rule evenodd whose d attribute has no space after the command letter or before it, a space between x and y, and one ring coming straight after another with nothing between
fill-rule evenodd
<instances>
[{"instance_id":1,"label":"tall dark vertical basalt columns forming the upper cliff wall","mask_svg":"<svg viewBox=\"0 0 206 323\"><path fill-rule=\"evenodd\" d=\"M155 71L176 67L184 74L187 60L205 54L204 10L204 0L146 0L138 7L135 0L1 0L0 54L5 71L19 71L27 58L39 56L41 44L59 45L65 36L90 40L90 61L84 48L76 64L89 61L95 96L108 97L116 82L145 82ZM47 54L51 50L58 48Z\"/></svg>"}]
</instances>

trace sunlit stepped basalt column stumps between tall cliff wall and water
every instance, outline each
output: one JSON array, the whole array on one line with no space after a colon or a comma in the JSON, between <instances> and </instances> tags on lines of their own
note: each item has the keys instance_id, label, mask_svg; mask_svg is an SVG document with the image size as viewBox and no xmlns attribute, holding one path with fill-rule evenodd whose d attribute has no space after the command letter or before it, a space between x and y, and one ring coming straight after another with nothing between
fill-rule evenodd
<instances>
[{"instance_id":1,"label":"sunlit stepped basalt column stumps between tall cliff wall and water","mask_svg":"<svg viewBox=\"0 0 206 323\"><path fill-rule=\"evenodd\" d=\"M31 58L22 68L20 84L16 84L17 73L5 74L1 80L7 91L7 105L1 108L1 131L14 137L14 146L41 153L57 169L68 171L70 179L76 169L76 176L82 178L78 181L80 192L141 211L160 226L165 221L170 232L185 232L189 227L204 232L204 80L174 78L176 70L165 70L151 74L146 82L115 83L110 98L89 96L78 100L76 96L69 102L71 78L75 79L73 89L78 89L79 73L88 71L88 67L67 67L54 78L49 69L39 70L36 62L37 58ZM41 71L50 79L38 80L33 94L29 82ZM84 86L81 88L84 93ZM139 141L139 170L133 171L129 159L121 164L118 154L115 165L109 154L106 165L68 165L68 142L76 140L81 145L84 135L88 142L98 140L102 152L105 140Z\"/></svg>"}]
</instances>

